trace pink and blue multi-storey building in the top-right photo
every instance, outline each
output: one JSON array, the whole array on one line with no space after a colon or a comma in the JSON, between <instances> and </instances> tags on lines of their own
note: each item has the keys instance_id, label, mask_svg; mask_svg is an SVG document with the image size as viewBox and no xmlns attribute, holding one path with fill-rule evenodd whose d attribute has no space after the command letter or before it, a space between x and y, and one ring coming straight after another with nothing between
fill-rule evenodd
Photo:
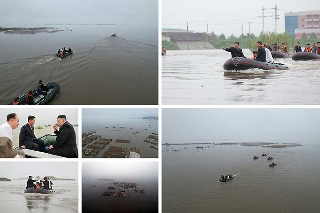
<instances>
[{"instance_id":1,"label":"pink and blue multi-storey building in the top-right photo","mask_svg":"<svg viewBox=\"0 0 320 213\"><path fill-rule=\"evenodd\" d=\"M308 10L297 13L285 13L285 31L300 39L303 34L308 38L315 34L320 39L320 10Z\"/></svg>"}]
</instances>

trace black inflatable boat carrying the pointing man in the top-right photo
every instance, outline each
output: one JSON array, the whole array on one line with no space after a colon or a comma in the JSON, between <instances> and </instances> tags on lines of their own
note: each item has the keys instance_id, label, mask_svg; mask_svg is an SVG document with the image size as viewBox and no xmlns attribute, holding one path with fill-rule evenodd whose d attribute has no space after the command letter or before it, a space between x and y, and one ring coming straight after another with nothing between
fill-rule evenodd
<instances>
[{"instance_id":1,"label":"black inflatable boat carrying the pointing man in the top-right photo","mask_svg":"<svg viewBox=\"0 0 320 213\"><path fill-rule=\"evenodd\" d=\"M288 70L289 68L284 64L273 63L273 62L261 62L256 61L250 58L230 58L228 59L224 65L223 69L225 70L248 70L259 68L262 70Z\"/></svg>"}]
</instances>

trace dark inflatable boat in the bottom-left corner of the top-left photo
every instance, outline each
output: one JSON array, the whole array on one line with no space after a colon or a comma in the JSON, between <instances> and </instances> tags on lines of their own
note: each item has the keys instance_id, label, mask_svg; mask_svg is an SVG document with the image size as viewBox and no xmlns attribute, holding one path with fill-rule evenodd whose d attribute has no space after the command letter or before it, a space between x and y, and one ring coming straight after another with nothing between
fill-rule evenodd
<instances>
[{"instance_id":1,"label":"dark inflatable boat in the bottom-left corner of the top-left photo","mask_svg":"<svg viewBox=\"0 0 320 213\"><path fill-rule=\"evenodd\" d=\"M57 94L60 92L60 86L54 82L51 82L47 84L47 95L38 95L36 93L36 89L32 90L32 93L34 94L34 102L32 105L45 105L49 101L51 101ZM19 97L18 102L22 105L26 105L25 100L27 98L27 94L24 94ZM9 105L12 105L13 102L11 102Z\"/></svg>"}]
</instances>

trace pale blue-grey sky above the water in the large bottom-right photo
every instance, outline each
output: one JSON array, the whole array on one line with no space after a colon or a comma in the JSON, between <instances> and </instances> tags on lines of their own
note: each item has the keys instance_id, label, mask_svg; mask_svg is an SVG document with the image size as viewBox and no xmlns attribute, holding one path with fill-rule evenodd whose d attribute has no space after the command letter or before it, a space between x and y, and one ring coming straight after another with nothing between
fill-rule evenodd
<instances>
[{"instance_id":1,"label":"pale blue-grey sky above the water in the large bottom-right photo","mask_svg":"<svg viewBox=\"0 0 320 213\"><path fill-rule=\"evenodd\" d=\"M162 138L320 141L320 109L163 109ZM260 141L259 141L260 140Z\"/></svg>"}]
</instances>

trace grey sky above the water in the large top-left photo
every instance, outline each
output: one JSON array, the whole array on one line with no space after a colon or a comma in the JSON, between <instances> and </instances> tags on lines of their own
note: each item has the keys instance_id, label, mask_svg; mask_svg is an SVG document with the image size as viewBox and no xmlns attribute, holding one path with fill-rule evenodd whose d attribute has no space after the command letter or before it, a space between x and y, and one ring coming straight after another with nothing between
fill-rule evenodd
<instances>
[{"instance_id":1,"label":"grey sky above the water in the large top-left photo","mask_svg":"<svg viewBox=\"0 0 320 213\"><path fill-rule=\"evenodd\" d=\"M1 0L0 24L158 25L158 0Z\"/></svg>"}]
</instances>

